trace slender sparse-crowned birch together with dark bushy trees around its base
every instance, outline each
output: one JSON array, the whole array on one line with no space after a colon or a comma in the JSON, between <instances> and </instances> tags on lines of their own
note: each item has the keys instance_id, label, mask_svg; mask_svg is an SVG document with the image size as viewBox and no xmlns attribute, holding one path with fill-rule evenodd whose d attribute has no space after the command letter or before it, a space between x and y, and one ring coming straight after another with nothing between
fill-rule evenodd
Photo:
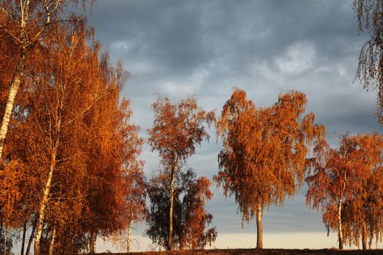
<instances>
[{"instance_id":1,"label":"slender sparse-crowned birch together with dark bushy trees around its base","mask_svg":"<svg viewBox=\"0 0 383 255\"><path fill-rule=\"evenodd\" d=\"M163 170L148 188L148 236L169 250L203 248L217 236L214 228L204 233L212 220L203 208L205 201L212 198L210 181L205 177L196 179L191 169L184 170L196 145L209 138L204 124L214 122L214 112L201 110L196 97L171 104L169 98L159 96L152 108L155 120L148 129L148 143L152 151L159 152Z\"/></svg>"}]
</instances>

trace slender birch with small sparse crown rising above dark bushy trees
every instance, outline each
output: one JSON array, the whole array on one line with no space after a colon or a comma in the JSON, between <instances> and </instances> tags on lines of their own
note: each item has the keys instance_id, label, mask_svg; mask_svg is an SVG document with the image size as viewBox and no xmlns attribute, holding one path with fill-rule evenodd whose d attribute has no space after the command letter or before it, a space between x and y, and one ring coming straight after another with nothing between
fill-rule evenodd
<instances>
[{"instance_id":1,"label":"slender birch with small sparse crown rising above dark bushy trees","mask_svg":"<svg viewBox=\"0 0 383 255\"><path fill-rule=\"evenodd\" d=\"M178 104L171 104L168 97L158 97L152 104L155 120L148 129L148 143L152 151L158 151L161 164L169 177L169 238L167 249L173 241L174 179L181 165L194 155L196 145L201 145L209 135L203 124L214 120L214 112L206 113L197 105L196 97L188 97Z\"/></svg>"}]
</instances>

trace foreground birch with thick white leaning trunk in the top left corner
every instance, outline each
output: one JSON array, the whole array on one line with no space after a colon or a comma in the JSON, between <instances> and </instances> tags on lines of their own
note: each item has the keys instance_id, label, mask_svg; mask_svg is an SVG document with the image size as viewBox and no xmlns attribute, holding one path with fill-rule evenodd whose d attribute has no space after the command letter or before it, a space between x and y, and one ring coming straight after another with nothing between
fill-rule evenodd
<instances>
[{"instance_id":1,"label":"foreground birch with thick white leaning trunk in the top left corner","mask_svg":"<svg viewBox=\"0 0 383 255\"><path fill-rule=\"evenodd\" d=\"M65 7L77 5L77 0L11 0L0 2L0 33L8 40L15 54L16 65L8 85L8 98L0 127L0 160L8 131L15 98L24 80L28 56L40 44L42 35L50 34L53 24L65 20ZM2 49L3 50L3 49Z\"/></svg>"}]
</instances>

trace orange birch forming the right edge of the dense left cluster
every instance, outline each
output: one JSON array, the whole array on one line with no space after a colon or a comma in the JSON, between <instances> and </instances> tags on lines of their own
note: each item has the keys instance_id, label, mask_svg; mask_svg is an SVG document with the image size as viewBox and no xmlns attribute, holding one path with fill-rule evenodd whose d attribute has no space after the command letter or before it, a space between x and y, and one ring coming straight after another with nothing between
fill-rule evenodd
<instances>
[{"instance_id":1,"label":"orange birch forming the right edge of the dense left cluster","mask_svg":"<svg viewBox=\"0 0 383 255\"><path fill-rule=\"evenodd\" d=\"M129 101L123 100L116 108L118 100L102 99L97 106L100 112L93 116L99 120L92 123L100 135L93 134L88 161L89 176L94 180L89 187L87 216L91 253L95 253L97 236L121 236L132 222L145 215L143 162L139 160L143 140L139 138L139 127L130 123Z\"/></svg>"}]
</instances>

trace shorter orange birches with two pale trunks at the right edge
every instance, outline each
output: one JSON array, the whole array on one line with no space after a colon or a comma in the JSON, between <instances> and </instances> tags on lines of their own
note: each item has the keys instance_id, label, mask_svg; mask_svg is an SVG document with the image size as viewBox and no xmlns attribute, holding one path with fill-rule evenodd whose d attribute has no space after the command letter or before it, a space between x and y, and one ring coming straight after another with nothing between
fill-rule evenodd
<instances>
[{"instance_id":1,"label":"shorter orange birches with two pale trunks at the right edge","mask_svg":"<svg viewBox=\"0 0 383 255\"><path fill-rule=\"evenodd\" d=\"M308 159L307 204L321 210L327 228L338 232L339 249L346 238L366 249L367 236L382 235L382 137L343 135L338 149L325 140Z\"/></svg>"}]
</instances>

